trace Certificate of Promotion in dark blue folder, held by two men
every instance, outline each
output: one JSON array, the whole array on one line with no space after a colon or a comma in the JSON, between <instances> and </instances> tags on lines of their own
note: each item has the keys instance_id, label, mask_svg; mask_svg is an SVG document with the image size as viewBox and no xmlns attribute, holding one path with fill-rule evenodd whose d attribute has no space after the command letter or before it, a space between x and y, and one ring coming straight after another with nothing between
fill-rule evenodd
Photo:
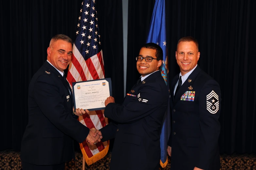
<instances>
[{"instance_id":1,"label":"Certificate of Promotion in dark blue folder, held by two men","mask_svg":"<svg viewBox=\"0 0 256 170\"><path fill-rule=\"evenodd\" d=\"M75 109L105 109L105 100L112 96L111 78L73 82L72 89Z\"/></svg>"}]
</instances>

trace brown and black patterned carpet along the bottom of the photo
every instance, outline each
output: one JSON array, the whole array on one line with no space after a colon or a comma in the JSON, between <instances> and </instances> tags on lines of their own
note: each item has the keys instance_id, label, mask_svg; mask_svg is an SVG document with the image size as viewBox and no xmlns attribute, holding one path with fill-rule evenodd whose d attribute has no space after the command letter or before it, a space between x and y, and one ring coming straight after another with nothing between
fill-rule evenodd
<instances>
[{"instance_id":1,"label":"brown and black patterned carpet along the bottom of the photo","mask_svg":"<svg viewBox=\"0 0 256 170\"><path fill-rule=\"evenodd\" d=\"M82 169L82 154L76 152L76 161L72 160L66 163L65 170L81 170ZM86 170L108 170L111 158L109 152L103 159L87 165ZM170 162L168 157L168 164L165 168L159 170L169 170ZM232 154L221 155L220 170L256 170L256 154ZM22 170L20 161L20 153L12 150L0 151L0 170Z\"/></svg>"}]
</instances>

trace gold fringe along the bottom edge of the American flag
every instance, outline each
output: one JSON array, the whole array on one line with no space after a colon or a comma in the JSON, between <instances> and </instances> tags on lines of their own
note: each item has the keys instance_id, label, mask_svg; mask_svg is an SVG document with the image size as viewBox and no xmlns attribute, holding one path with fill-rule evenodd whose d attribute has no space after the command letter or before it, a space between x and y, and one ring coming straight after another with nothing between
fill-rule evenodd
<instances>
[{"instance_id":1,"label":"gold fringe along the bottom edge of the American flag","mask_svg":"<svg viewBox=\"0 0 256 170\"><path fill-rule=\"evenodd\" d=\"M109 151L109 140L108 140L108 145L106 146L105 149L103 149L102 151L100 151L99 153L97 153L96 155L92 156L91 158L89 158L87 156L87 154L85 153L85 150L84 150L84 147L83 147L83 144L79 143L80 145L80 149L82 151L82 154L83 154L83 157L85 159L85 162L88 164L88 165L91 165L95 162L97 162L98 160L100 160L101 158L103 158L104 156L107 155L108 151Z\"/></svg>"}]
</instances>

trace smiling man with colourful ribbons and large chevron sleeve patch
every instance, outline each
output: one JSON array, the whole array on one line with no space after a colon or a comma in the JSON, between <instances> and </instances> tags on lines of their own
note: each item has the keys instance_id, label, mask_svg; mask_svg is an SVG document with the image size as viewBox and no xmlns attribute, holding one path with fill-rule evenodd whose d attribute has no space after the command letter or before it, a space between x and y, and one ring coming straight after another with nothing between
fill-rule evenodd
<instances>
[{"instance_id":1,"label":"smiling man with colourful ribbons and large chevron sleeve patch","mask_svg":"<svg viewBox=\"0 0 256 170\"><path fill-rule=\"evenodd\" d=\"M167 148L171 170L220 169L220 87L199 68L199 57L195 38L179 40L180 73L171 83L172 132Z\"/></svg>"}]
</instances>

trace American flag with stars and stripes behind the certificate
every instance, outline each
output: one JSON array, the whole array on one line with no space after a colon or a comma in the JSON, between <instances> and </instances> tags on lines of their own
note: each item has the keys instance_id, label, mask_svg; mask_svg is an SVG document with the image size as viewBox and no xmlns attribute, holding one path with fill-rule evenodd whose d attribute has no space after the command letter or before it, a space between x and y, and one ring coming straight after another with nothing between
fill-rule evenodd
<instances>
[{"instance_id":1,"label":"American flag with stars and stripes behind the certificate","mask_svg":"<svg viewBox=\"0 0 256 170\"><path fill-rule=\"evenodd\" d=\"M72 82L105 78L103 54L101 50L99 26L95 0L84 0L78 18L76 40L73 45L72 59L69 64L67 80ZM88 128L100 129L108 124L104 110L90 111L78 120ZM109 141L98 142L91 146L85 141L80 143L83 157L88 165L103 158L109 149Z\"/></svg>"}]
</instances>

